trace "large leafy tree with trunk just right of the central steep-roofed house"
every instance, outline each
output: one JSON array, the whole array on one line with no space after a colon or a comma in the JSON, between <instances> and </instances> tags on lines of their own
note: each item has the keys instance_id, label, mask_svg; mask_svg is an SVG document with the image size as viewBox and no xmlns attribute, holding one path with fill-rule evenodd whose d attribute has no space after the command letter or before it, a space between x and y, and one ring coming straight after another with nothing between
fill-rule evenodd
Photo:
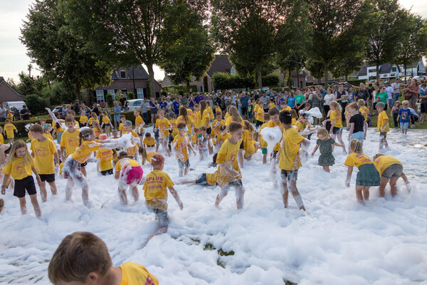
<instances>
[{"instance_id":1,"label":"large leafy tree with trunk just right of the central steep-roofed house","mask_svg":"<svg viewBox=\"0 0 427 285\"><path fill-rule=\"evenodd\" d=\"M271 63L280 32L300 0L211 0L212 33L234 63L255 66L257 87L263 86L264 63Z\"/></svg>"}]
</instances>

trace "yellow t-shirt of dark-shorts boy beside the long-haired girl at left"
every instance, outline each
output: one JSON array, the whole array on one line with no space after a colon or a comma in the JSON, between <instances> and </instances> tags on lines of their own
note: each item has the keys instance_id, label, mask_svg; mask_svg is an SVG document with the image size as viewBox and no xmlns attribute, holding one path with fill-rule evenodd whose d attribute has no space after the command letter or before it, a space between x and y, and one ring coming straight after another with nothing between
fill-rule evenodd
<instances>
[{"instance_id":1,"label":"yellow t-shirt of dark-shorts boy beside the long-haired girl at left","mask_svg":"<svg viewBox=\"0 0 427 285\"><path fill-rule=\"evenodd\" d=\"M55 173L55 162L53 155L56 153L55 142L48 138L44 142L31 140L30 150L34 152L34 164L38 174Z\"/></svg>"}]
</instances>

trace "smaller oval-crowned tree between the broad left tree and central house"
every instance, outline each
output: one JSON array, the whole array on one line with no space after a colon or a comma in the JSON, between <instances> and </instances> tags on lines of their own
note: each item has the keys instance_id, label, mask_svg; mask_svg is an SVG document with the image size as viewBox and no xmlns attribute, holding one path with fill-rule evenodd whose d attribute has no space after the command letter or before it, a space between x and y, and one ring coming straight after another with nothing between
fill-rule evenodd
<instances>
[{"instance_id":1,"label":"smaller oval-crowned tree between the broad left tree and central house","mask_svg":"<svg viewBox=\"0 0 427 285\"><path fill-rule=\"evenodd\" d=\"M179 25L165 24L174 28L169 34L181 34L179 41L169 44L165 48L164 56L159 66L171 78L174 84L186 83L186 91L190 91L191 78L196 81L205 76L214 60L215 46L208 33L208 27L203 24L203 17L191 12L188 4L176 6L174 12L177 17L181 17ZM189 12L191 14L189 14ZM171 18L169 18L170 20ZM173 19L176 22L176 19ZM171 39L173 41L174 38Z\"/></svg>"}]
</instances>

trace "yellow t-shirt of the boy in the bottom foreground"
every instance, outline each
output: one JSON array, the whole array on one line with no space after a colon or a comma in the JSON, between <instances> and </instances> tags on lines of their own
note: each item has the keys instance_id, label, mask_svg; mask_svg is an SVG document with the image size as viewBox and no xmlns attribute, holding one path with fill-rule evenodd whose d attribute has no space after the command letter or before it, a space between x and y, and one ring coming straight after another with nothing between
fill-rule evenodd
<instances>
[{"instance_id":1,"label":"yellow t-shirt of the boy in the bottom foreground","mask_svg":"<svg viewBox=\"0 0 427 285\"><path fill-rule=\"evenodd\" d=\"M159 280L140 264L125 262L119 267L122 269L122 280L119 285L159 285Z\"/></svg>"}]
</instances>

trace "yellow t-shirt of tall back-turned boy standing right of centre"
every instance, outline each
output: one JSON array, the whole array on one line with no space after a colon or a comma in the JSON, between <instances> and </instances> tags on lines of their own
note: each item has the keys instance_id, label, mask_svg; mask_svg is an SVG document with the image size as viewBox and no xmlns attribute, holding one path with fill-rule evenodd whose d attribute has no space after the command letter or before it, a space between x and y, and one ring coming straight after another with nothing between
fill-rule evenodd
<instances>
[{"instance_id":1,"label":"yellow t-shirt of tall back-turned boy standing right of centre","mask_svg":"<svg viewBox=\"0 0 427 285\"><path fill-rule=\"evenodd\" d=\"M301 166L300 143L305 138L295 128L283 130L282 148L280 150L279 168L282 170L297 170Z\"/></svg>"}]
</instances>

